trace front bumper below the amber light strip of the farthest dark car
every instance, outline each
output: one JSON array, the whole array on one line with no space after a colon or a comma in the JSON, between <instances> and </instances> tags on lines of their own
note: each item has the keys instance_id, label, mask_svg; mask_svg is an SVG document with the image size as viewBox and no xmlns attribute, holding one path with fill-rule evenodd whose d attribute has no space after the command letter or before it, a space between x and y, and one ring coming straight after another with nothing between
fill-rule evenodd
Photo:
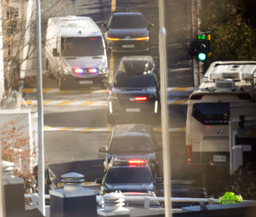
<instances>
[{"instance_id":1,"label":"front bumper below the amber light strip of the farthest dark car","mask_svg":"<svg viewBox=\"0 0 256 217\"><path fill-rule=\"evenodd\" d=\"M107 40L107 47L112 52L143 52L150 50L150 42L148 40Z\"/></svg>"}]
</instances>

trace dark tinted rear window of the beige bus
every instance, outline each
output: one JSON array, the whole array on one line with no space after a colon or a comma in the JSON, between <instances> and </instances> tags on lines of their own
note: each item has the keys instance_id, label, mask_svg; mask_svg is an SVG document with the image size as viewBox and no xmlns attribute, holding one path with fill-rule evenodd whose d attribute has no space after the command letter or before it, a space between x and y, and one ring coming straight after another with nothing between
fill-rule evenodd
<instances>
[{"instance_id":1,"label":"dark tinted rear window of the beige bus","mask_svg":"<svg viewBox=\"0 0 256 217\"><path fill-rule=\"evenodd\" d=\"M194 104L192 117L204 125L228 125L230 103L199 103Z\"/></svg>"}]
</instances>

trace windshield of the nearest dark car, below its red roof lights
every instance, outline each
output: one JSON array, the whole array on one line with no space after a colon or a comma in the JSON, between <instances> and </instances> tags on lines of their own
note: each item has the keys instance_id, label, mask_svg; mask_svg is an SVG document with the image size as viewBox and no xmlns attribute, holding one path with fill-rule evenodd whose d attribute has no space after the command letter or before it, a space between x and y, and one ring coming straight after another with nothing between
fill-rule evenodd
<instances>
[{"instance_id":1,"label":"windshield of the nearest dark car, below its red roof lights","mask_svg":"<svg viewBox=\"0 0 256 217\"><path fill-rule=\"evenodd\" d=\"M110 168L106 183L151 183L152 178L147 167Z\"/></svg>"}]
</instances>

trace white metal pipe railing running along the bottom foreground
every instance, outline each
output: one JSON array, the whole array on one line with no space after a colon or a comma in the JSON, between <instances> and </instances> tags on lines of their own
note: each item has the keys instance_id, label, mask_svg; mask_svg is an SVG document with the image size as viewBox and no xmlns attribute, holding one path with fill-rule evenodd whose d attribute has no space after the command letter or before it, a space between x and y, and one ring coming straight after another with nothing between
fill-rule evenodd
<instances>
[{"instance_id":1,"label":"white metal pipe railing running along the bottom foreground","mask_svg":"<svg viewBox=\"0 0 256 217\"><path fill-rule=\"evenodd\" d=\"M38 194L24 195L25 198L31 198L32 205L38 204ZM50 195L45 195L46 199L50 199ZM144 201L144 208L150 208L150 202L158 201L164 202L164 197L153 197L153 196L123 196L125 201ZM102 205L102 195L96 195L97 203ZM184 203L208 203L208 204L218 204L219 199L213 198L186 198L186 197L172 197L172 202L184 202Z\"/></svg>"}]
</instances>

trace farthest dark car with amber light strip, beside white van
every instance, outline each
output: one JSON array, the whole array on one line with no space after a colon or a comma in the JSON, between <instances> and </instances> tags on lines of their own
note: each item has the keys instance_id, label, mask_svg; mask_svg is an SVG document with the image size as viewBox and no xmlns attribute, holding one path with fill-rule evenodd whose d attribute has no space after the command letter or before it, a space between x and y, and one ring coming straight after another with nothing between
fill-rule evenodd
<instances>
[{"instance_id":1,"label":"farthest dark car with amber light strip, beside white van","mask_svg":"<svg viewBox=\"0 0 256 217\"><path fill-rule=\"evenodd\" d=\"M115 11L103 22L108 53L150 52L150 28L154 26L139 11Z\"/></svg>"}]
</instances>

